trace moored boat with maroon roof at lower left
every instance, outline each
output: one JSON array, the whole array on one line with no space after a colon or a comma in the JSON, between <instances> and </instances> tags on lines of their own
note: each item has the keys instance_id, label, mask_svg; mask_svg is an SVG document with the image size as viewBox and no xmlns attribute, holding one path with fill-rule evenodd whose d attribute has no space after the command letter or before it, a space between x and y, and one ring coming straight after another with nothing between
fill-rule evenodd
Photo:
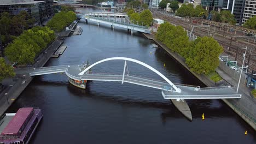
<instances>
[{"instance_id":1,"label":"moored boat with maroon roof at lower left","mask_svg":"<svg viewBox=\"0 0 256 144\"><path fill-rule=\"evenodd\" d=\"M0 118L0 144L26 144L43 117L36 107L23 107Z\"/></svg>"}]
</instances>

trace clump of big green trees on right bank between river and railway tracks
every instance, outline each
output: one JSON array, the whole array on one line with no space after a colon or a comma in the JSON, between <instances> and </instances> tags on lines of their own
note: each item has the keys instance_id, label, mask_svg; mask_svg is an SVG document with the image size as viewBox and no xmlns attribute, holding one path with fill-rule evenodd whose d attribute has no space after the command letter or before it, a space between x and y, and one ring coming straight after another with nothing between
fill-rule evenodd
<instances>
[{"instance_id":1,"label":"clump of big green trees on right bank between river and railway tracks","mask_svg":"<svg viewBox=\"0 0 256 144\"><path fill-rule=\"evenodd\" d=\"M218 67L218 56L223 47L211 37L197 38L189 41L187 32L181 26L165 22L158 28L156 38L173 52L185 58L185 62L198 74L208 74Z\"/></svg>"}]
</instances>

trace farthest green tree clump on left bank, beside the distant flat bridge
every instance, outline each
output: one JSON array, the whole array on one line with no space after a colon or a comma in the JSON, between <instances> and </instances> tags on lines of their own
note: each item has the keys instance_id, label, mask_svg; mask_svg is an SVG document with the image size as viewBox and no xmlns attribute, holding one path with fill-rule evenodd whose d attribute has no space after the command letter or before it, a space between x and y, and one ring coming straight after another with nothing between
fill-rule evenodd
<instances>
[{"instance_id":1,"label":"farthest green tree clump on left bank, beside the distant flat bridge","mask_svg":"<svg viewBox=\"0 0 256 144\"><path fill-rule=\"evenodd\" d=\"M62 31L71 22L77 19L77 15L73 11L61 11L47 23L47 26L56 32Z\"/></svg>"}]
</instances>

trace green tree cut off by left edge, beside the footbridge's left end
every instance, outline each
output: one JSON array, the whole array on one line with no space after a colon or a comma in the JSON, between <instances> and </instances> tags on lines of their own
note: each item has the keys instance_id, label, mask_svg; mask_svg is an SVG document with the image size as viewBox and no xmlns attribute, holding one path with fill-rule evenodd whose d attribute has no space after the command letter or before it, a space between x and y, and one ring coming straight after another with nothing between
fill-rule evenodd
<instances>
[{"instance_id":1,"label":"green tree cut off by left edge, beside the footbridge's left end","mask_svg":"<svg viewBox=\"0 0 256 144\"><path fill-rule=\"evenodd\" d=\"M5 63L3 57L0 57L0 82L5 78L13 77L13 76L15 76L13 67Z\"/></svg>"}]
</instances>

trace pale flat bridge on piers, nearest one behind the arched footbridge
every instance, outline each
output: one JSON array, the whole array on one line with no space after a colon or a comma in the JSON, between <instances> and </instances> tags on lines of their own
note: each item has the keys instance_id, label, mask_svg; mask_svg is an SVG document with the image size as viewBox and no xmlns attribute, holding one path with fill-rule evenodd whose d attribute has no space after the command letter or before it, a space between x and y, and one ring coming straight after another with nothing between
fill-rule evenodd
<instances>
[{"instance_id":1,"label":"pale flat bridge on piers, nearest one behind the arched footbridge","mask_svg":"<svg viewBox=\"0 0 256 144\"><path fill-rule=\"evenodd\" d=\"M112 28L114 27L126 28L129 31L131 31L131 33L133 31L138 31L138 32L151 34L149 27L136 25L135 24L136 22L130 22L130 21L121 22L116 19L110 19L110 17L98 17L95 14L94 15L77 14L77 17L80 19L84 19L86 22L88 21L97 22L98 26L100 25L100 23L104 23L106 25L110 25Z\"/></svg>"}]
</instances>

